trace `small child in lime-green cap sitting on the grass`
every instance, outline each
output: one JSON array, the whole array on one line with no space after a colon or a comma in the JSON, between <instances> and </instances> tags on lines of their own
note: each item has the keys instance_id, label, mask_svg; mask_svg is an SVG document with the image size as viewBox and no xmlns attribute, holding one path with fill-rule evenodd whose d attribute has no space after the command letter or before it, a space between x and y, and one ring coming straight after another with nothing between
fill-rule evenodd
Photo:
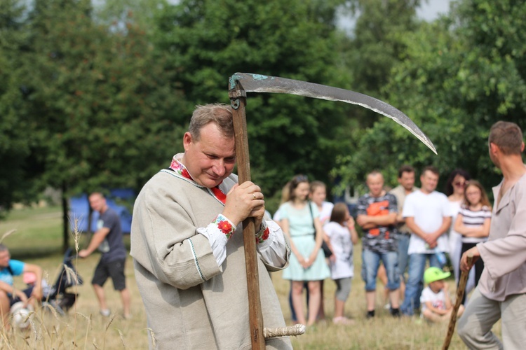
<instances>
[{"instance_id":1,"label":"small child in lime-green cap sitting on the grass","mask_svg":"<svg viewBox=\"0 0 526 350\"><path fill-rule=\"evenodd\" d=\"M422 316L431 322L441 322L450 319L453 306L451 304L449 286L445 279L451 275L443 272L438 267L429 267L424 272L424 282L428 285L422 290L420 304L422 305ZM457 317L464 312L460 305Z\"/></svg>"}]
</instances>

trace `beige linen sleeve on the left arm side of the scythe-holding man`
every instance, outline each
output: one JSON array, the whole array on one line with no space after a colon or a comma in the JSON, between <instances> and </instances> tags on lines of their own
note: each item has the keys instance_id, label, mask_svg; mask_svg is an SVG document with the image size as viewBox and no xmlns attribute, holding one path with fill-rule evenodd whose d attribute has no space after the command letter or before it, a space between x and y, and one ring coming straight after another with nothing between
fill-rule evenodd
<instances>
[{"instance_id":1,"label":"beige linen sleeve on the left arm side of the scythe-holding man","mask_svg":"<svg viewBox=\"0 0 526 350\"><path fill-rule=\"evenodd\" d=\"M222 271L208 238L198 234L190 214L163 188L137 197L132 226L130 254L159 281L187 289Z\"/></svg>"}]
</instances>

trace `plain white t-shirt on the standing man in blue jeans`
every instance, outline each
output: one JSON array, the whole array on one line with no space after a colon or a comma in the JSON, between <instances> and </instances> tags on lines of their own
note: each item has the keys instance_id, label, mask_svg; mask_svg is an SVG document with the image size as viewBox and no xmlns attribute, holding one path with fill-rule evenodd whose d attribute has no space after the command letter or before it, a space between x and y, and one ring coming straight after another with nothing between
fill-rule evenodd
<instances>
[{"instance_id":1,"label":"plain white t-shirt on the standing man in blue jeans","mask_svg":"<svg viewBox=\"0 0 526 350\"><path fill-rule=\"evenodd\" d=\"M433 191L426 194L422 190L410 193L405 197L403 217L413 217L414 223L424 232L435 232L442 226L443 218L452 216L450 202L440 192ZM438 251L449 251L447 235L440 235L437 240ZM412 234L409 241L409 254L434 253L433 249L426 248L424 239Z\"/></svg>"}]
</instances>

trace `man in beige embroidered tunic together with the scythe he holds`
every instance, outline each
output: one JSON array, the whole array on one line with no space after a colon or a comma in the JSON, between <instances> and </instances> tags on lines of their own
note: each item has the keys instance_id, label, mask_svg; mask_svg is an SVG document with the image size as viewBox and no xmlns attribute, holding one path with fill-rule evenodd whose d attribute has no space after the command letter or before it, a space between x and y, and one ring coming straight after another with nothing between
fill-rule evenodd
<instances>
[{"instance_id":1,"label":"man in beige embroidered tunic together with the scythe he holds","mask_svg":"<svg viewBox=\"0 0 526 350\"><path fill-rule=\"evenodd\" d=\"M150 346L290 349L290 340L281 336L304 331L283 330L269 274L258 274L283 269L290 247L276 223L262 220L264 195L250 181L246 92L358 104L395 120L436 153L410 118L367 95L259 74L231 76L231 108L198 107L184 134L184 153L150 179L135 202L130 253L147 310ZM236 160L238 186L231 174ZM243 236L236 232L242 221ZM275 328L263 329L263 323Z\"/></svg>"}]
</instances>

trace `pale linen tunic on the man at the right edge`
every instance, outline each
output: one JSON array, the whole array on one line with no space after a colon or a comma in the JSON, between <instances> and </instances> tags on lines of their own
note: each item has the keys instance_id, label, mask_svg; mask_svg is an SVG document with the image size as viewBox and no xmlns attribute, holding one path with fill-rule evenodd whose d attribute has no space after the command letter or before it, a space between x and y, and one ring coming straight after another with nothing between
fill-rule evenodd
<instances>
[{"instance_id":1,"label":"pale linen tunic on the man at the right edge","mask_svg":"<svg viewBox=\"0 0 526 350\"><path fill-rule=\"evenodd\" d=\"M493 188L494 198L501 186ZM485 266L478 281L482 295L502 302L526 293L526 174L494 205L490 236L477 248Z\"/></svg>"}]
</instances>

